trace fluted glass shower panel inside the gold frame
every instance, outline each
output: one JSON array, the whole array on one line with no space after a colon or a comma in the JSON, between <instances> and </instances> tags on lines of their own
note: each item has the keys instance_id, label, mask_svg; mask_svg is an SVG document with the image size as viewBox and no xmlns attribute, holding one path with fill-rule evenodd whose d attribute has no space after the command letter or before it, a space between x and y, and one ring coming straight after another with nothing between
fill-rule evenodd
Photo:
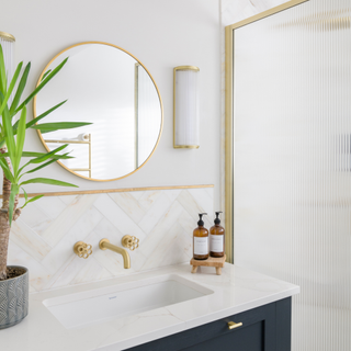
<instances>
[{"instance_id":1,"label":"fluted glass shower panel inside the gold frame","mask_svg":"<svg viewBox=\"0 0 351 351\"><path fill-rule=\"evenodd\" d=\"M294 351L351 350L350 14L310 0L234 35L235 263L301 286Z\"/></svg>"}]
</instances>

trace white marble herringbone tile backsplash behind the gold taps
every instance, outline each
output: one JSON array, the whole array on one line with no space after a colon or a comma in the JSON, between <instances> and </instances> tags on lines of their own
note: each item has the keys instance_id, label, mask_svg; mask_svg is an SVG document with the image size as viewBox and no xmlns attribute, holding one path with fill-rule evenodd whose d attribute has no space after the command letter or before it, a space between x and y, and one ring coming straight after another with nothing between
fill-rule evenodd
<instances>
[{"instance_id":1,"label":"white marble herringbone tile backsplash behind the gold taps","mask_svg":"<svg viewBox=\"0 0 351 351\"><path fill-rule=\"evenodd\" d=\"M213 188L147 190L121 193L47 196L23 210L13 224L9 264L30 270L30 291L52 288L127 275L188 262L197 213L213 223ZM107 238L121 246L124 235L140 240L128 251L132 268L123 268L121 254L99 249ZM80 259L77 241L92 245L93 253Z\"/></svg>"}]
</instances>

